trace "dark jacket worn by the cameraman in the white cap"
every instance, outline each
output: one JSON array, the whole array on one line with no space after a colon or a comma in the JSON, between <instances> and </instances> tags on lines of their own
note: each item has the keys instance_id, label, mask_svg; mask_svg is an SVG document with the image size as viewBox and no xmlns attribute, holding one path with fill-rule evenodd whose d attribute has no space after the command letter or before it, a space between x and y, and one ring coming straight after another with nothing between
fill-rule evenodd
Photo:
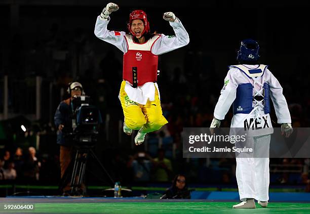
<instances>
[{"instance_id":1,"label":"dark jacket worn by the cameraman in the white cap","mask_svg":"<svg viewBox=\"0 0 310 214\"><path fill-rule=\"evenodd\" d=\"M72 115L71 98L60 102L54 116L57 127L57 144L72 145L72 139L67 136L67 134L72 133ZM61 132L58 130L60 124L64 125Z\"/></svg>"}]
</instances>

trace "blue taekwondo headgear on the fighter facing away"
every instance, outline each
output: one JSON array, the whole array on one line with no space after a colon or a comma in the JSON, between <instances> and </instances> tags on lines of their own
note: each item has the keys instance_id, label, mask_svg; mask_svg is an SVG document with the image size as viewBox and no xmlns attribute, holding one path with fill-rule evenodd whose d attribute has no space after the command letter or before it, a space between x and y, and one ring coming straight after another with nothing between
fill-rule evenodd
<instances>
[{"instance_id":1,"label":"blue taekwondo headgear on the fighter facing away","mask_svg":"<svg viewBox=\"0 0 310 214\"><path fill-rule=\"evenodd\" d=\"M244 39L241 41L237 60L239 61L257 61L259 58L259 45L253 39Z\"/></svg>"}]
</instances>

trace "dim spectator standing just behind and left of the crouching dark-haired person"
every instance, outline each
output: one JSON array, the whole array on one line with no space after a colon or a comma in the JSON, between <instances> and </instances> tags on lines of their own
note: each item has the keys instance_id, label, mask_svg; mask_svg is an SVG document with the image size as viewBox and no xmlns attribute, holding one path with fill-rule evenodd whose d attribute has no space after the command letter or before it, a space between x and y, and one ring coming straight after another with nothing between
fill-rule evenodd
<instances>
[{"instance_id":1,"label":"dim spectator standing just behind and left of the crouching dark-haired person","mask_svg":"<svg viewBox=\"0 0 310 214\"><path fill-rule=\"evenodd\" d=\"M165 158L165 150L158 150L158 157L153 160L154 181L167 182L172 174L171 161Z\"/></svg>"}]
</instances>

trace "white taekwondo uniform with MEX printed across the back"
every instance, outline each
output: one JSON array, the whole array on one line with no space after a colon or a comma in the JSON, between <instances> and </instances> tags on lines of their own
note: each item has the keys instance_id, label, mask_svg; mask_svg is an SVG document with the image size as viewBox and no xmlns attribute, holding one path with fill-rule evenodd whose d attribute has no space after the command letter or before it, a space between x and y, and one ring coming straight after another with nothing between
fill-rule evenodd
<instances>
[{"instance_id":1,"label":"white taekwondo uniform with MEX printed across the back","mask_svg":"<svg viewBox=\"0 0 310 214\"><path fill-rule=\"evenodd\" d=\"M238 91L238 88L241 89L246 85L252 96L248 96L249 93L247 95ZM267 88L263 89L265 85ZM278 123L291 123L290 112L282 91L279 81L265 65L229 66L224 87L214 109L214 117L220 120L224 119L235 100L243 99L245 101L248 99L247 104L237 101L234 105L234 117L230 127L254 130L247 140L252 141L255 152L267 152L266 154L268 154L270 134L273 133L269 116L269 97L273 101ZM254 100L255 96L263 97L265 100ZM269 158L244 157L236 158L236 160L240 199L244 201L246 198L255 198L260 201L268 201Z\"/></svg>"}]
</instances>

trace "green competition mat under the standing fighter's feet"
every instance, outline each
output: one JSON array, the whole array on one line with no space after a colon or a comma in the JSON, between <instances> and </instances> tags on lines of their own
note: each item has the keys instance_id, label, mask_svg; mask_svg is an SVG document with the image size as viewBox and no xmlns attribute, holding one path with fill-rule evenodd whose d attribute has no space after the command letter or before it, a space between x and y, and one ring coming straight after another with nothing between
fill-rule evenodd
<instances>
[{"instance_id":1,"label":"green competition mat under the standing fighter's feet","mask_svg":"<svg viewBox=\"0 0 310 214\"><path fill-rule=\"evenodd\" d=\"M32 203L34 210L4 210L4 204ZM108 198L1 198L0 213L310 213L310 203L269 203L268 208L232 209L236 202L206 200L108 199Z\"/></svg>"}]
</instances>

